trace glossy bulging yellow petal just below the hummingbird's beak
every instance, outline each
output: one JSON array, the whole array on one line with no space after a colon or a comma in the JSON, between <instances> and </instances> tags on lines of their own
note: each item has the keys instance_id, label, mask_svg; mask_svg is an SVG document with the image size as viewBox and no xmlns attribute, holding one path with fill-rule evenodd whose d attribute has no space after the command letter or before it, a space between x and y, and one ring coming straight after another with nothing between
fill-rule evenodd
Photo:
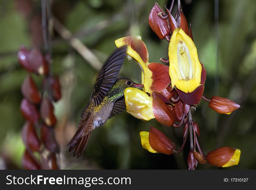
<instances>
[{"instance_id":1,"label":"glossy bulging yellow petal just below the hummingbird's beak","mask_svg":"<svg viewBox=\"0 0 256 190\"><path fill-rule=\"evenodd\" d=\"M126 111L137 119L149 121L153 114L153 98L137 88L125 89Z\"/></svg>"}]
</instances>

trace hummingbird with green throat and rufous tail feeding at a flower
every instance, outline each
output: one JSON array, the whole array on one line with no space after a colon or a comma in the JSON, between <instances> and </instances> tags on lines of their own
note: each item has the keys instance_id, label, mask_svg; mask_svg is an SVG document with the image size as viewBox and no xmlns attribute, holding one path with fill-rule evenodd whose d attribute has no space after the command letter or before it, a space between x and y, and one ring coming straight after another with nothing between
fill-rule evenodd
<instances>
[{"instance_id":1,"label":"hummingbird with green throat and rufous tail feeding at a flower","mask_svg":"<svg viewBox=\"0 0 256 190\"><path fill-rule=\"evenodd\" d=\"M125 60L127 46L116 49L99 71L93 95L81 113L77 132L68 143L69 152L77 158L85 149L91 132L116 114L124 111L124 92L127 87L143 87L126 77L117 78Z\"/></svg>"}]
</instances>

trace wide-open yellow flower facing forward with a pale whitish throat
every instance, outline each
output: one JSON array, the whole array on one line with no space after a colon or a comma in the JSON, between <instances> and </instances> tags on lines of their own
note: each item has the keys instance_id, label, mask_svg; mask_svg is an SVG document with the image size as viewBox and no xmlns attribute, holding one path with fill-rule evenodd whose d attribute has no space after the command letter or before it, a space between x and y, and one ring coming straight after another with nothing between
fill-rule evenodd
<instances>
[{"instance_id":1,"label":"wide-open yellow flower facing forward with a pale whitish throat","mask_svg":"<svg viewBox=\"0 0 256 190\"><path fill-rule=\"evenodd\" d=\"M172 87L193 92L201 82L202 65L193 40L181 29L173 31L168 48L169 75Z\"/></svg>"}]
</instances>

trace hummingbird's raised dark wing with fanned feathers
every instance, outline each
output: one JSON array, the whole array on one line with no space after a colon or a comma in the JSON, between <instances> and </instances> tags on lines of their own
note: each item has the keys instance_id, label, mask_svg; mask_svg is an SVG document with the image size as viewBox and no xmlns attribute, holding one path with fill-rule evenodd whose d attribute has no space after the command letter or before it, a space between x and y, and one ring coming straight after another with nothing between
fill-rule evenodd
<instances>
[{"instance_id":1,"label":"hummingbird's raised dark wing with fanned feathers","mask_svg":"<svg viewBox=\"0 0 256 190\"><path fill-rule=\"evenodd\" d=\"M99 71L96 84L93 89L95 105L99 106L109 89L114 85L118 73L125 60L127 46L116 49Z\"/></svg>"}]
</instances>

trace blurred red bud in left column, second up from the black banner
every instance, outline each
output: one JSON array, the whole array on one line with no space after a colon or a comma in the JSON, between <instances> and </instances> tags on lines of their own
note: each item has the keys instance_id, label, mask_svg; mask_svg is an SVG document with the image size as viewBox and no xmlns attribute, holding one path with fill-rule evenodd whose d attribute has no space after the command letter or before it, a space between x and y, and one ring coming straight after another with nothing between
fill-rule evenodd
<instances>
[{"instance_id":1,"label":"blurred red bud in left column, second up from the black banner","mask_svg":"<svg viewBox=\"0 0 256 190\"><path fill-rule=\"evenodd\" d=\"M36 134L33 123L26 122L22 127L22 139L27 149L38 151L40 149L40 140Z\"/></svg>"}]
</instances>

